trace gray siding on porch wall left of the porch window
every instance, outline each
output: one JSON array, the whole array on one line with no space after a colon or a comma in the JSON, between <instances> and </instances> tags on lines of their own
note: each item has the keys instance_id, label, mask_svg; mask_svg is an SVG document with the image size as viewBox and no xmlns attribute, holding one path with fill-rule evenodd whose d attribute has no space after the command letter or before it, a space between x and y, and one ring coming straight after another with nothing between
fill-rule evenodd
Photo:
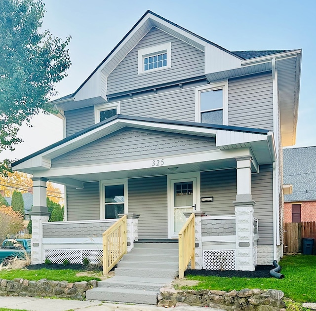
<instances>
[{"instance_id":1,"label":"gray siding on porch wall left of the porch window","mask_svg":"<svg viewBox=\"0 0 316 311\"><path fill-rule=\"evenodd\" d=\"M100 219L99 182L83 185L83 189L67 187L68 221Z\"/></svg>"}]
</instances>

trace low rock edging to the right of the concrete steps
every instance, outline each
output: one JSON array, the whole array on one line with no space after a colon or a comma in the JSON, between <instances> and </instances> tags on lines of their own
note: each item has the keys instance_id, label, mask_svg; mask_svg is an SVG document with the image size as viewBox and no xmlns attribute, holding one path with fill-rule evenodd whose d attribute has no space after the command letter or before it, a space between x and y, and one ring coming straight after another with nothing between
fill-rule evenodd
<instances>
[{"instance_id":1,"label":"low rock edging to the right of the concrete steps","mask_svg":"<svg viewBox=\"0 0 316 311\"><path fill-rule=\"evenodd\" d=\"M279 311L285 307L284 293L276 289L242 289L225 292L221 290L175 290L161 288L158 306L176 307L183 304L221 308L227 311Z\"/></svg>"}]
</instances>

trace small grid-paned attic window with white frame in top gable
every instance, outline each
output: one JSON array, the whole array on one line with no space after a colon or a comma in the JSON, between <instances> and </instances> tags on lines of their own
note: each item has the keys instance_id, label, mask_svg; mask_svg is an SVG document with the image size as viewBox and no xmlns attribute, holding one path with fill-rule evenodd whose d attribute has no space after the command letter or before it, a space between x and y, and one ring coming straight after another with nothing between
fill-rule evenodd
<instances>
[{"instance_id":1,"label":"small grid-paned attic window with white frame in top gable","mask_svg":"<svg viewBox=\"0 0 316 311\"><path fill-rule=\"evenodd\" d=\"M171 67L171 42L138 50L138 74Z\"/></svg>"}]
</instances>

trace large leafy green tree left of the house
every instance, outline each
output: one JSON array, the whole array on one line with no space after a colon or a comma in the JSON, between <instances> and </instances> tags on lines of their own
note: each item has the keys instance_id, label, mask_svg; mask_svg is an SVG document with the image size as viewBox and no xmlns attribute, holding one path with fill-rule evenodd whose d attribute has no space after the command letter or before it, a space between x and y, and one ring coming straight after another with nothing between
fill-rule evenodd
<instances>
[{"instance_id":1,"label":"large leafy green tree left of the house","mask_svg":"<svg viewBox=\"0 0 316 311\"><path fill-rule=\"evenodd\" d=\"M0 152L22 141L17 133L23 121L52 111L49 97L71 65L70 37L62 41L42 31L44 13L41 0L0 0ZM9 164L0 162L0 174Z\"/></svg>"}]
</instances>

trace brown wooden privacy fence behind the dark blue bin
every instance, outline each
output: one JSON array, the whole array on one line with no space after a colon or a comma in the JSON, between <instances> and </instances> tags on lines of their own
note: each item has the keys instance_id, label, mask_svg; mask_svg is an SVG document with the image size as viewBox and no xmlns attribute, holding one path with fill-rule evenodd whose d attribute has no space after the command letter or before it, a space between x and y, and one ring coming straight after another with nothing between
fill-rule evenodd
<instances>
[{"instance_id":1,"label":"brown wooden privacy fence behind the dark blue bin","mask_svg":"<svg viewBox=\"0 0 316 311\"><path fill-rule=\"evenodd\" d=\"M316 251L316 222L284 223L284 253L301 253L302 239L314 238Z\"/></svg>"}]
</instances>

